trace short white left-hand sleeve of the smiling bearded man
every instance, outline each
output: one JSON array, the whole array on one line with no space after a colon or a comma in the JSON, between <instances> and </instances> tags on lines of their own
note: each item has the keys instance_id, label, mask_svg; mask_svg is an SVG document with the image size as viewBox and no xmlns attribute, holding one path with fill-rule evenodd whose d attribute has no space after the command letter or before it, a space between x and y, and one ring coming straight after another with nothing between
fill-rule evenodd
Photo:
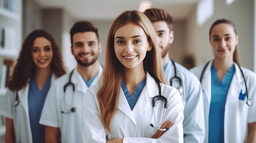
<instances>
[{"instance_id":1,"label":"short white left-hand sleeve of the smiling bearded man","mask_svg":"<svg viewBox=\"0 0 256 143\"><path fill-rule=\"evenodd\" d=\"M55 85L52 85L45 99L39 124L55 128L59 127L56 94L56 87Z\"/></svg>"}]
</instances>

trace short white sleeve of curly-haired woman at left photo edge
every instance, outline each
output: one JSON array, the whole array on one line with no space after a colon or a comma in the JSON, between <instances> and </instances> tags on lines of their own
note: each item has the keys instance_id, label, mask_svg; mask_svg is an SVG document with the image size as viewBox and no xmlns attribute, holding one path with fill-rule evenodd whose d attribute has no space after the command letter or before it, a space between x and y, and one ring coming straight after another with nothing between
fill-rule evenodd
<instances>
[{"instance_id":1,"label":"short white sleeve of curly-haired woman at left photo edge","mask_svg":"<svg viewBox=\"0 0 256 143\"><path fill-rule=\"evenodd\" d=\"M8 89L6 95L0 96L0 114L10 119L13 118L14 93Z\"/></svg>"}]
</instances>

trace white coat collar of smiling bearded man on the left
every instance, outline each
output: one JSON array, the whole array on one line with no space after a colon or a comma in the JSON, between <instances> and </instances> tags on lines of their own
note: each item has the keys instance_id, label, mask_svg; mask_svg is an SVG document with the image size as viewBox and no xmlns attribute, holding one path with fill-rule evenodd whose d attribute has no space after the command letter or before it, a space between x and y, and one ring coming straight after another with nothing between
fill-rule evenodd
<instances>
[{"instance_id":1,"label":"white coat collar of smiling bearded man on the left","mask_svg":"<svg viewBox=\"0 0 256 143\"><path fill-rule=\"evenodd\" d=\"M102 75L102 66L100 63L98 63L98 66L99 66L99 71L98 71L96 77L94 78L94 80L92 81L91 85L97 84ZM80 73L78 73L77 68L74 69L73 75L71 77L71 82L74 83L74 85L75 85L75 87L77 87L76 89L78 91L81 91L84 94L86 93L86 90L88 89L88 87L84 83L84 79L82 78Z\"/></svg>"}]
</instances>

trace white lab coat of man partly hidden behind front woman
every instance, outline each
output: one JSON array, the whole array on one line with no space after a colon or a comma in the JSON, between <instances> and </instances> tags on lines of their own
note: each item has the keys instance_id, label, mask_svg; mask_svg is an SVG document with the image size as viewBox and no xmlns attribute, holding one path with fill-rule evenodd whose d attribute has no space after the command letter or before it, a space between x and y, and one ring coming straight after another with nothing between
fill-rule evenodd
<instances>
[{"instance_id":1,"label":"white lab coat of man partly hidden behind front woman","mask_svg":"<svg viewBox=\"0 0 256 143\"><path fill-rule=\"evenodd\" d=\"M203 110L203 90L197 77L178 63L175 63L176 74L182 80L183 94L181 95L184 105L183 133L184 143L202 143L205 139L205 121ZM164 71L166 83L174 77L174 66L168 64ZM172 87L179 87L180 83L172 80Z\"/></svg>"}]
</instances>

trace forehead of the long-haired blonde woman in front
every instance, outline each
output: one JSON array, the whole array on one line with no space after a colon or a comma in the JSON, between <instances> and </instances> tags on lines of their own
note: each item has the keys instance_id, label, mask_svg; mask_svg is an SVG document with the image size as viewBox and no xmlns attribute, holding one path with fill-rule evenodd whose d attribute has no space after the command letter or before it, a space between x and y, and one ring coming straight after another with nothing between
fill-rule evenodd
<instances>
[{"instance_id":1,"label":"forehead of the long-haired blonde woman in front","mask_svg":"<svg viewBox=\"0 0 256 143\"><path fill-rule=\"evenodd\" d=\"M115 32L114 38L116 37L125 37L125 38L131 38L133 36L140 35L142 37L147 37L144 29L134 23L128 23L123 26L121 26L117 31Z\"/></svg>"}]
</instances>

